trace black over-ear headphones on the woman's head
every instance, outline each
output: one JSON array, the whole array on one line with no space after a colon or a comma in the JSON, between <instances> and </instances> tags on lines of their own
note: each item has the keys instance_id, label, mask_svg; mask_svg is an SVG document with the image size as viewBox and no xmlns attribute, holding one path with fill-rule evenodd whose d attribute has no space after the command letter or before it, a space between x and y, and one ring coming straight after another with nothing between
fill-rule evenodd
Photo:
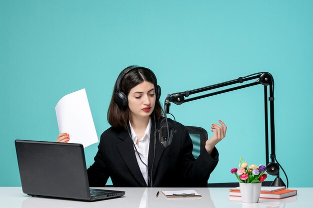
<instances>
[{"instance_id":1,"label":"black over-ear headphones on the woman's head","mask_svg":"<svg viewBox=\"0 0 313 208\"><path fill-rule=\"evenodd\" d=\"M124 70L122 70L120 74L118 75L117 81L116 81L116 92L114 93L114 101L117 103L118 107L120 107L123 110L125 110L128 106L128 99L127 99L127 95L125 95L125 93L121 91L121 81L123 80L124 76L133 69L148 70L152 74L153 79L154 79L153 84L154 84L154 92L155 92L155 97L156 97L155 101L158 101L158 99L161 96L161 88L160 86L157 85L156 77L153 71L151 71L148 68L141 67L141 66L129 66L125 68Z\"/></svg>"}]
</instances>

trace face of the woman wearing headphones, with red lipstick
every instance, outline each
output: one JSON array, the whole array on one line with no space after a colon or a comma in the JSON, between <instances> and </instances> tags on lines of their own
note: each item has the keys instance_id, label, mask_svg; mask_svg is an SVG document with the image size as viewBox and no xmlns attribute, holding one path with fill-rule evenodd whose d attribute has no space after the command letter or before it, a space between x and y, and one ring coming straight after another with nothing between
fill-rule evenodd
<instances>
[{"instance_id":1,"label":"face of the woman wearing headphones, with red lipstick","mask_svg":"<svg viewBox=\"0 0 313 208\"><path fill-rule=\"evenodd\" d=\"M143 81L129 91L127 98L131 119L148 118L155 105L154 85Z\"/></svg>"}]
</instances>

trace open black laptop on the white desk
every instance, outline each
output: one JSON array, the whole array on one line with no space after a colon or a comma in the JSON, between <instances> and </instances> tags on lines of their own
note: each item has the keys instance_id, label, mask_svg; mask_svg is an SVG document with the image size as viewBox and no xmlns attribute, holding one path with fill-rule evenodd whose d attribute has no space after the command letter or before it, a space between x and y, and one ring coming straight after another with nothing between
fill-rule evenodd
<instances>
[{"instance_id":1,"label":"open black laptop on the white desk","mask_svg":"<svg viewBox=\"0 0 313 208\"><path fill-rule=\"evenodd\" d=\"M30 196L97 201L123 191L89 189L81 144L15 140L23 193Z\"/></svg>"}]
</instances>

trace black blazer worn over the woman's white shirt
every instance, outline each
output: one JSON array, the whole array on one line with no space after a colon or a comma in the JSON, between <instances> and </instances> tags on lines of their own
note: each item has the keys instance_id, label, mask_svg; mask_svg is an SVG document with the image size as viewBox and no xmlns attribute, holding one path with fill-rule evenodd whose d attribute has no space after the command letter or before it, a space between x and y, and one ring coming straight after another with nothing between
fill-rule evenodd
<instances>
[{"instance_id":1,"label":"black blazer worn over the woman's white shirt","mask_svg":"<svg viewBox=\"0 0 313 208\"><path fill-rule=\"evenodd\" d=\"M172 143L166 148L159 143L158 133L156 134L153 162L154 122L152 121L148 154L148 174L152 178L152 186L206 187L209 175L218 162L216 148L211 155L208 155L203 148L195 160L192 156L192 142L186 128L178 122L175 123L175 128L176 134L173 136ZM94 163L87 170L90 187L104 187L108 177L111 177L114 187L147 187L132 142L123 128L110 127L102 133Z\"/></svg>"}]
</instances>

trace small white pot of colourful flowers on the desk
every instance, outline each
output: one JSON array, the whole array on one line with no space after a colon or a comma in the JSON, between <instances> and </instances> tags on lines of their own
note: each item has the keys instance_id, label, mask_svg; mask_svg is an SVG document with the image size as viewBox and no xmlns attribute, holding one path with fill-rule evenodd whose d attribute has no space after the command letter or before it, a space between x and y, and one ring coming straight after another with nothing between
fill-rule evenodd
<instances>
[{"instance_id":1,"label":"small white pot of colourful flowers on the desk","mask_svg":"<svg viewBox=\"0 0 313 208\"><path fill-rule=\"evenodd\" d=\"M230 173L234 174L239 181L241 199L243 203L257 203L261 192L261 183L267 178L266 167L248 165L239 160L239 169L233 168Z\"/></svg>"}]
</instances>

